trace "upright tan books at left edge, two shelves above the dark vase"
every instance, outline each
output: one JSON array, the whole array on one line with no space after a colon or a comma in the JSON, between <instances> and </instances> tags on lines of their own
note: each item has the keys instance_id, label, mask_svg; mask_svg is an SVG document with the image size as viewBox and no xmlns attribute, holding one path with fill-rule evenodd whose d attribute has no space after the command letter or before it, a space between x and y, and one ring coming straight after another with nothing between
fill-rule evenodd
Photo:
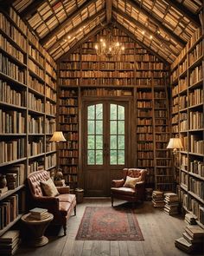
<instances>
[{"instance_id":1,"label":"upright tan books at left edge, two shelves above the dark vase","mask_svg":"<svg viewBox=\"0 0 204 256\"><path fill-rule=\"evenodd\" d=\"M0 109L0 120L0 134L23 134L25 132L25 117L22 112Z\"/></svg>"}]
</instances>

